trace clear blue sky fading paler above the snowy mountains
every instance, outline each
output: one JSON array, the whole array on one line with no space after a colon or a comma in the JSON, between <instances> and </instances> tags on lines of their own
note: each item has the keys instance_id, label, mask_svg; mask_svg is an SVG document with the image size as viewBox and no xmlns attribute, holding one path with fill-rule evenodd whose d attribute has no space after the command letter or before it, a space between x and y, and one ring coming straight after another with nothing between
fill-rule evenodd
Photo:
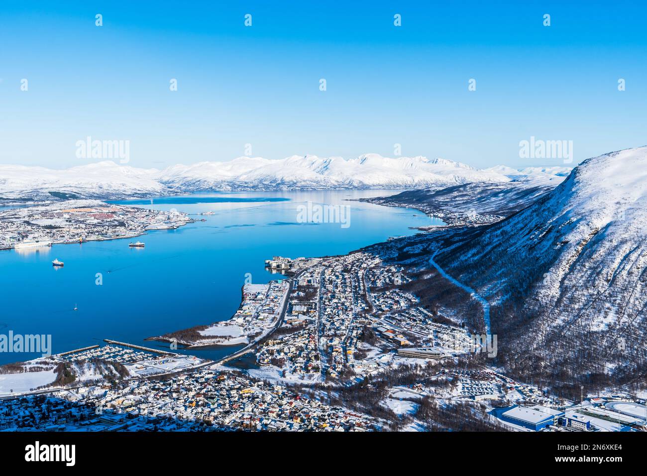
<instances>
[{"instance_id":1,"label":"clear blue sky fading paler above the snowy mountains","mask_svg":"<svg viewBox=\"0 0 647 476\"><path fill-rule=\"evenodd\" d=\"M87 163L87 136L156 168L248 143L478 167L562 164L521 159L531 136L572 140L575 163L647 144L647 6L562 3L5 1L0 163Z\"/></svg>"}]
</instances>

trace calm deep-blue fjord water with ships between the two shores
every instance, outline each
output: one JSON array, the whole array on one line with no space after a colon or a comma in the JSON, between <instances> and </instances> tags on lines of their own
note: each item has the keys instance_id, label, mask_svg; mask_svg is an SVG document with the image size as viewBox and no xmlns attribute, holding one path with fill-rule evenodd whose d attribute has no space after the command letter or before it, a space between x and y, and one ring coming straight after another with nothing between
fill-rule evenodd
<instances>
[{"instance_id":1,"label":"calm deep-blue fjord water with ships between the two shores","mask_svg":"<svg viewBox=\"0 0 647 476\"><path fill-rule=\"evenodd\" d=\"M0 251L0 334L51 334L52 353L114 339L168 350L146 337L229 319L245 278L265 283L280 275L264 267L272 256L340 255L413 234L409 227L441 224L411 209L347 201L393 190L192 194L116 203L177 209L206 221L133 239ZM349 206L344 223L299 223L299 207ZM214 211L213 215L197 215ZM129 248L131 241L146 243ZM58 258L63 268L52 267ZM98 275L100 273L100 275ZM98 285L98 277L102 283ZM78 310L74 311L74 307ZM181 351L218 358L241 346ZM39 354L0 352L0 364Z\"/></svg>"}]
</instances>

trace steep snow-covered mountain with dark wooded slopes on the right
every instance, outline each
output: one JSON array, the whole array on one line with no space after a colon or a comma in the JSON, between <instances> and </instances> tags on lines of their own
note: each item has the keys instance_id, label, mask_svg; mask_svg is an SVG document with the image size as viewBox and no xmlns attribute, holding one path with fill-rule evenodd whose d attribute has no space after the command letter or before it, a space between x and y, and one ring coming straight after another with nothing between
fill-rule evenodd
<instances>
[{"instance_id":1,"label":"steep snow-covered mountain with dark wooded slopes on the right","mask_svg":"<svg viewBox=\"0 0 647 476\"><path fill-rule=\"evenodd\" d=\"M519 372L641 375L647 147L584 161L530 207L445 241L435 260L492 304L492 332Z\"/></svg>"}]
</instances>

